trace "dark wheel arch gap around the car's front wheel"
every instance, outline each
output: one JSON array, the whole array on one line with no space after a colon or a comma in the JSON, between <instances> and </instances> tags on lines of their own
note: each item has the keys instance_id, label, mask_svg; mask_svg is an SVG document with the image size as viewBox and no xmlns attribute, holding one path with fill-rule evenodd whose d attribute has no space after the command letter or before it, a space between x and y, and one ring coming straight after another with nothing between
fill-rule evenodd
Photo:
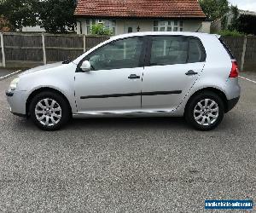
<instances>
[{"instance_id":1,"label":"dark wheel arch gap around the car's front wheel","mask_svg":"<svg viewBox=\"0 0 256 213\"><path fill-rule=\"evenodd\" d=\"M69 111L70 113L72 113L72 107L70 105L70 102L68 101L66 95L64 95L60 90L58 89L53 89L53 88L50 88L50 87L41 87L41 88L38 88L38 89L35 89L32 91L32 93L30 95L28 95L27 99L26 99L26 116L29 116L29 106L30 106L30 103L32 101L32 98L35 96L35 95L38 95L39 93L41 92L45 92L45 91L50 91L50 92L54 92L58 95L61 95L65 101L67 101L67 105L69 107Z\"/></svg>"}]
</instances>

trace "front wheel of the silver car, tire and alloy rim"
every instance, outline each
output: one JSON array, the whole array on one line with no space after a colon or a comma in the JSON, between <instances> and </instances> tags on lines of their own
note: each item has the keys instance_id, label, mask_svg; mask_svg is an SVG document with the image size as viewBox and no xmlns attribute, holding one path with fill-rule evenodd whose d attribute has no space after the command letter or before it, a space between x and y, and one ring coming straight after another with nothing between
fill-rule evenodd
<instances>
[{"instance_id":1,"label":"front wheel of the silver car, tire and alloy rim","mask_svg":"<svg viewBox=\"0 0 256 213\"><path fill-rule=\"evenodd\" d=\"M43 91L35 95L30 103L29 112L32 122L39 129L46 131L61 129L71 117L70 107L65 98L52 91Z\"/></svg>"}]
</instances>

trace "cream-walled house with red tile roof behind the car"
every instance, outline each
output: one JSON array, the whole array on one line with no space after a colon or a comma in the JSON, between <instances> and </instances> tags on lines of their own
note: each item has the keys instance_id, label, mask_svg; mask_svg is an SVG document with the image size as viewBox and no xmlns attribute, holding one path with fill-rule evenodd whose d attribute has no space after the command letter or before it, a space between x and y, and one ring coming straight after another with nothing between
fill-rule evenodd
<instances>
[{"instance_id":1,"label":"cream-walled house with red tile roof behind the car","mask_svg":"<svg viewBox=\"0 0 256 213\"><path fill-rule=\"evenodd\" d=\"M210 32L197 0L79 0L77 33L101 23L119 35L128 32Z\"/></svg>"}]
</instances>

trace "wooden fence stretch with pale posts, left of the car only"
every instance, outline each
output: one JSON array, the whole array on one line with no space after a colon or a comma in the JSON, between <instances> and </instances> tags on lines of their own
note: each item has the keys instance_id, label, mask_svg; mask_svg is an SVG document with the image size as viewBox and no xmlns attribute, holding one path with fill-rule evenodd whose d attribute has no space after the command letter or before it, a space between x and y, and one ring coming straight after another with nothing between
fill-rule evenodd
<instances>
[{"instance_id":1,"label":"wooden fence stretch with pale posts, left of the car only","mask_svg":"<svg viewBox=\"0 0 256 213\"><path fill-rule=\"evenodd\" d=\"M1 33L0 66L30 67L73 60L107 39L75 34Z\"/></svg>"}]
</instances>

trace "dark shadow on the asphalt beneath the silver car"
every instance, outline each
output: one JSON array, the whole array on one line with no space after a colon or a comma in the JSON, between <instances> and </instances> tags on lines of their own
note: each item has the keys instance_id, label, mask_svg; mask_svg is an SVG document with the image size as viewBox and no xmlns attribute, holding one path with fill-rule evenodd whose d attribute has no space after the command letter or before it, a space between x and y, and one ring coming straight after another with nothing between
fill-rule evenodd
<instances>
[{"instance_id":1,"label":"dark shadow on the asphalt beneath the silver car","mask_svg":"<svg viewBox=\"0 0 256 213\"><path fill-rule=\"evenodd\" d=\"M16 117L15 117L16 118ZM230 129L234 122L234 116L226 116L222 124L216 129ZM38 130L31 119L16 118L13 125L16 130ZM195 130L182 117L150 117L150 118L73 118L61 130ZM215 131L216 131L215 130ZM197 131L197 130L195 130ZM213 130L214 131L214 130Z\"/></svg>"}]
</instances>

